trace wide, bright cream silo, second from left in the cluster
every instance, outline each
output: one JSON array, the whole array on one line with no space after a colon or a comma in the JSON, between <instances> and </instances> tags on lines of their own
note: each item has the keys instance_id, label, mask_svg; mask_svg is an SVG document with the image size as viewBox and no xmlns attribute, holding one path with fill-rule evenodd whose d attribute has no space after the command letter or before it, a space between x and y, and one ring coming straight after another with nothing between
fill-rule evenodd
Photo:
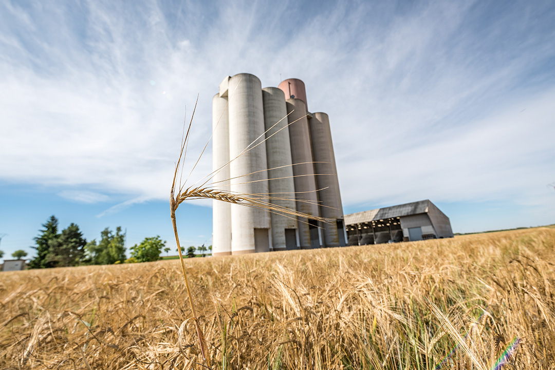
<instances>
[{"instance_id":1,"label":"wide, bright cream silo, second from left in the cluster","mask_svg":"<svg viewBox=\"0 0 555 370\"><path fill-rule=\"evenodd\" d=\"M253 194L253 197L268 194L260 80L246 73L231 77L228 100L231 192ZM249 146L253 149L243 153ZM269 229L268 211L231 204L232 254L269 251Z\"/></svg>"}]
</instances>

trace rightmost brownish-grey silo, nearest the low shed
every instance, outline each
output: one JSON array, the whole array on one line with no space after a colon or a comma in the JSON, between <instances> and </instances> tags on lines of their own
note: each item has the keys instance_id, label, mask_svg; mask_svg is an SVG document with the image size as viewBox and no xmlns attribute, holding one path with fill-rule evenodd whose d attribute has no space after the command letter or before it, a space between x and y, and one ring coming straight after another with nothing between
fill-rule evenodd
<instances>
[{"instance_id":1,"label":"rightmost brownish-grey silo, nearest the low shed","mask_svg":"<svg viewBox=\"0 0 555 370\"><path fill-rule=\"evenodd\" d=\"M315 162L316 185L321 189L318 192L320 215L340 221L332 224L324 223L322 225L324 228L324 244L325 246L345 245L344 230L342 228L343 208L339 192L329 117L325 113L314 113L312 119L309 120L309 126L312 140L312 156Z\"/></svg>"}]
</instances>

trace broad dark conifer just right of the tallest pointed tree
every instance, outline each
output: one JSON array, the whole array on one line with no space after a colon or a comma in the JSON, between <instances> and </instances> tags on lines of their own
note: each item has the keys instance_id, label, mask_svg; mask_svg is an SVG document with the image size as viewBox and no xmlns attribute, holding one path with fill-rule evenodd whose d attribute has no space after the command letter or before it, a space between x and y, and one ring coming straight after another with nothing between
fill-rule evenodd
<instances>
[{"instance_id":1,"label":"broad dark conifer just right of the tallest pointed tree","mask_svg":"<svg viewBox=\"0 0 555 370\"><path fill-rule=\"evenodd\" d=\"M46 261L52 267L78 266L85 255L87 240L77 224L71 223L58 238L49 242Z\"/></svg>"}]
</instances>

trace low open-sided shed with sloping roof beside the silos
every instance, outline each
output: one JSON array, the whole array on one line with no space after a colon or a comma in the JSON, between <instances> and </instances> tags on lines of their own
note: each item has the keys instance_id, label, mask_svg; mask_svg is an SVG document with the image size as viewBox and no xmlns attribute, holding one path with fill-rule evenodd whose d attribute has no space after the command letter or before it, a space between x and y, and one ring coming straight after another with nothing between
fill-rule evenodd
<instances>
[{"instance_id":1,"label":"low open-sided shed with sloping roof beside the silos","mask_svg":"<svg viewBox=\"0 0 555 370\"><path fill-rule=\"evenodd\" d=\"M346 214L345 224L347 245L453 237L449 218L428 200Z\"/></svg>"}]
</instances>

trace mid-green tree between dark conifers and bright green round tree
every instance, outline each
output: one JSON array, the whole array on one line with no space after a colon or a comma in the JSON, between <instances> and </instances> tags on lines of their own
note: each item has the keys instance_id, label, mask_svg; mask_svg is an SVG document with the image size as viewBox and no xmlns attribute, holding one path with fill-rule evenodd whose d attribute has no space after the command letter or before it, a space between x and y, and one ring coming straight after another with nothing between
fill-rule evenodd
<instances>
[{"instance_id":1,"label":"mid-green tree between dark conifers and bright green round tree","mask_svg":"<svg viewBox=\"0 0 555 370\"><path fill-rule=\"evenodd\" d=\"M90 241L85 245L86 260L92 265L111 265L116 261L123 263L125 261L125 235L122 234L122 228L117 227L114 233L105 228L100 233L100 242L96 240Z\"/></svg>"}]
</instances>

